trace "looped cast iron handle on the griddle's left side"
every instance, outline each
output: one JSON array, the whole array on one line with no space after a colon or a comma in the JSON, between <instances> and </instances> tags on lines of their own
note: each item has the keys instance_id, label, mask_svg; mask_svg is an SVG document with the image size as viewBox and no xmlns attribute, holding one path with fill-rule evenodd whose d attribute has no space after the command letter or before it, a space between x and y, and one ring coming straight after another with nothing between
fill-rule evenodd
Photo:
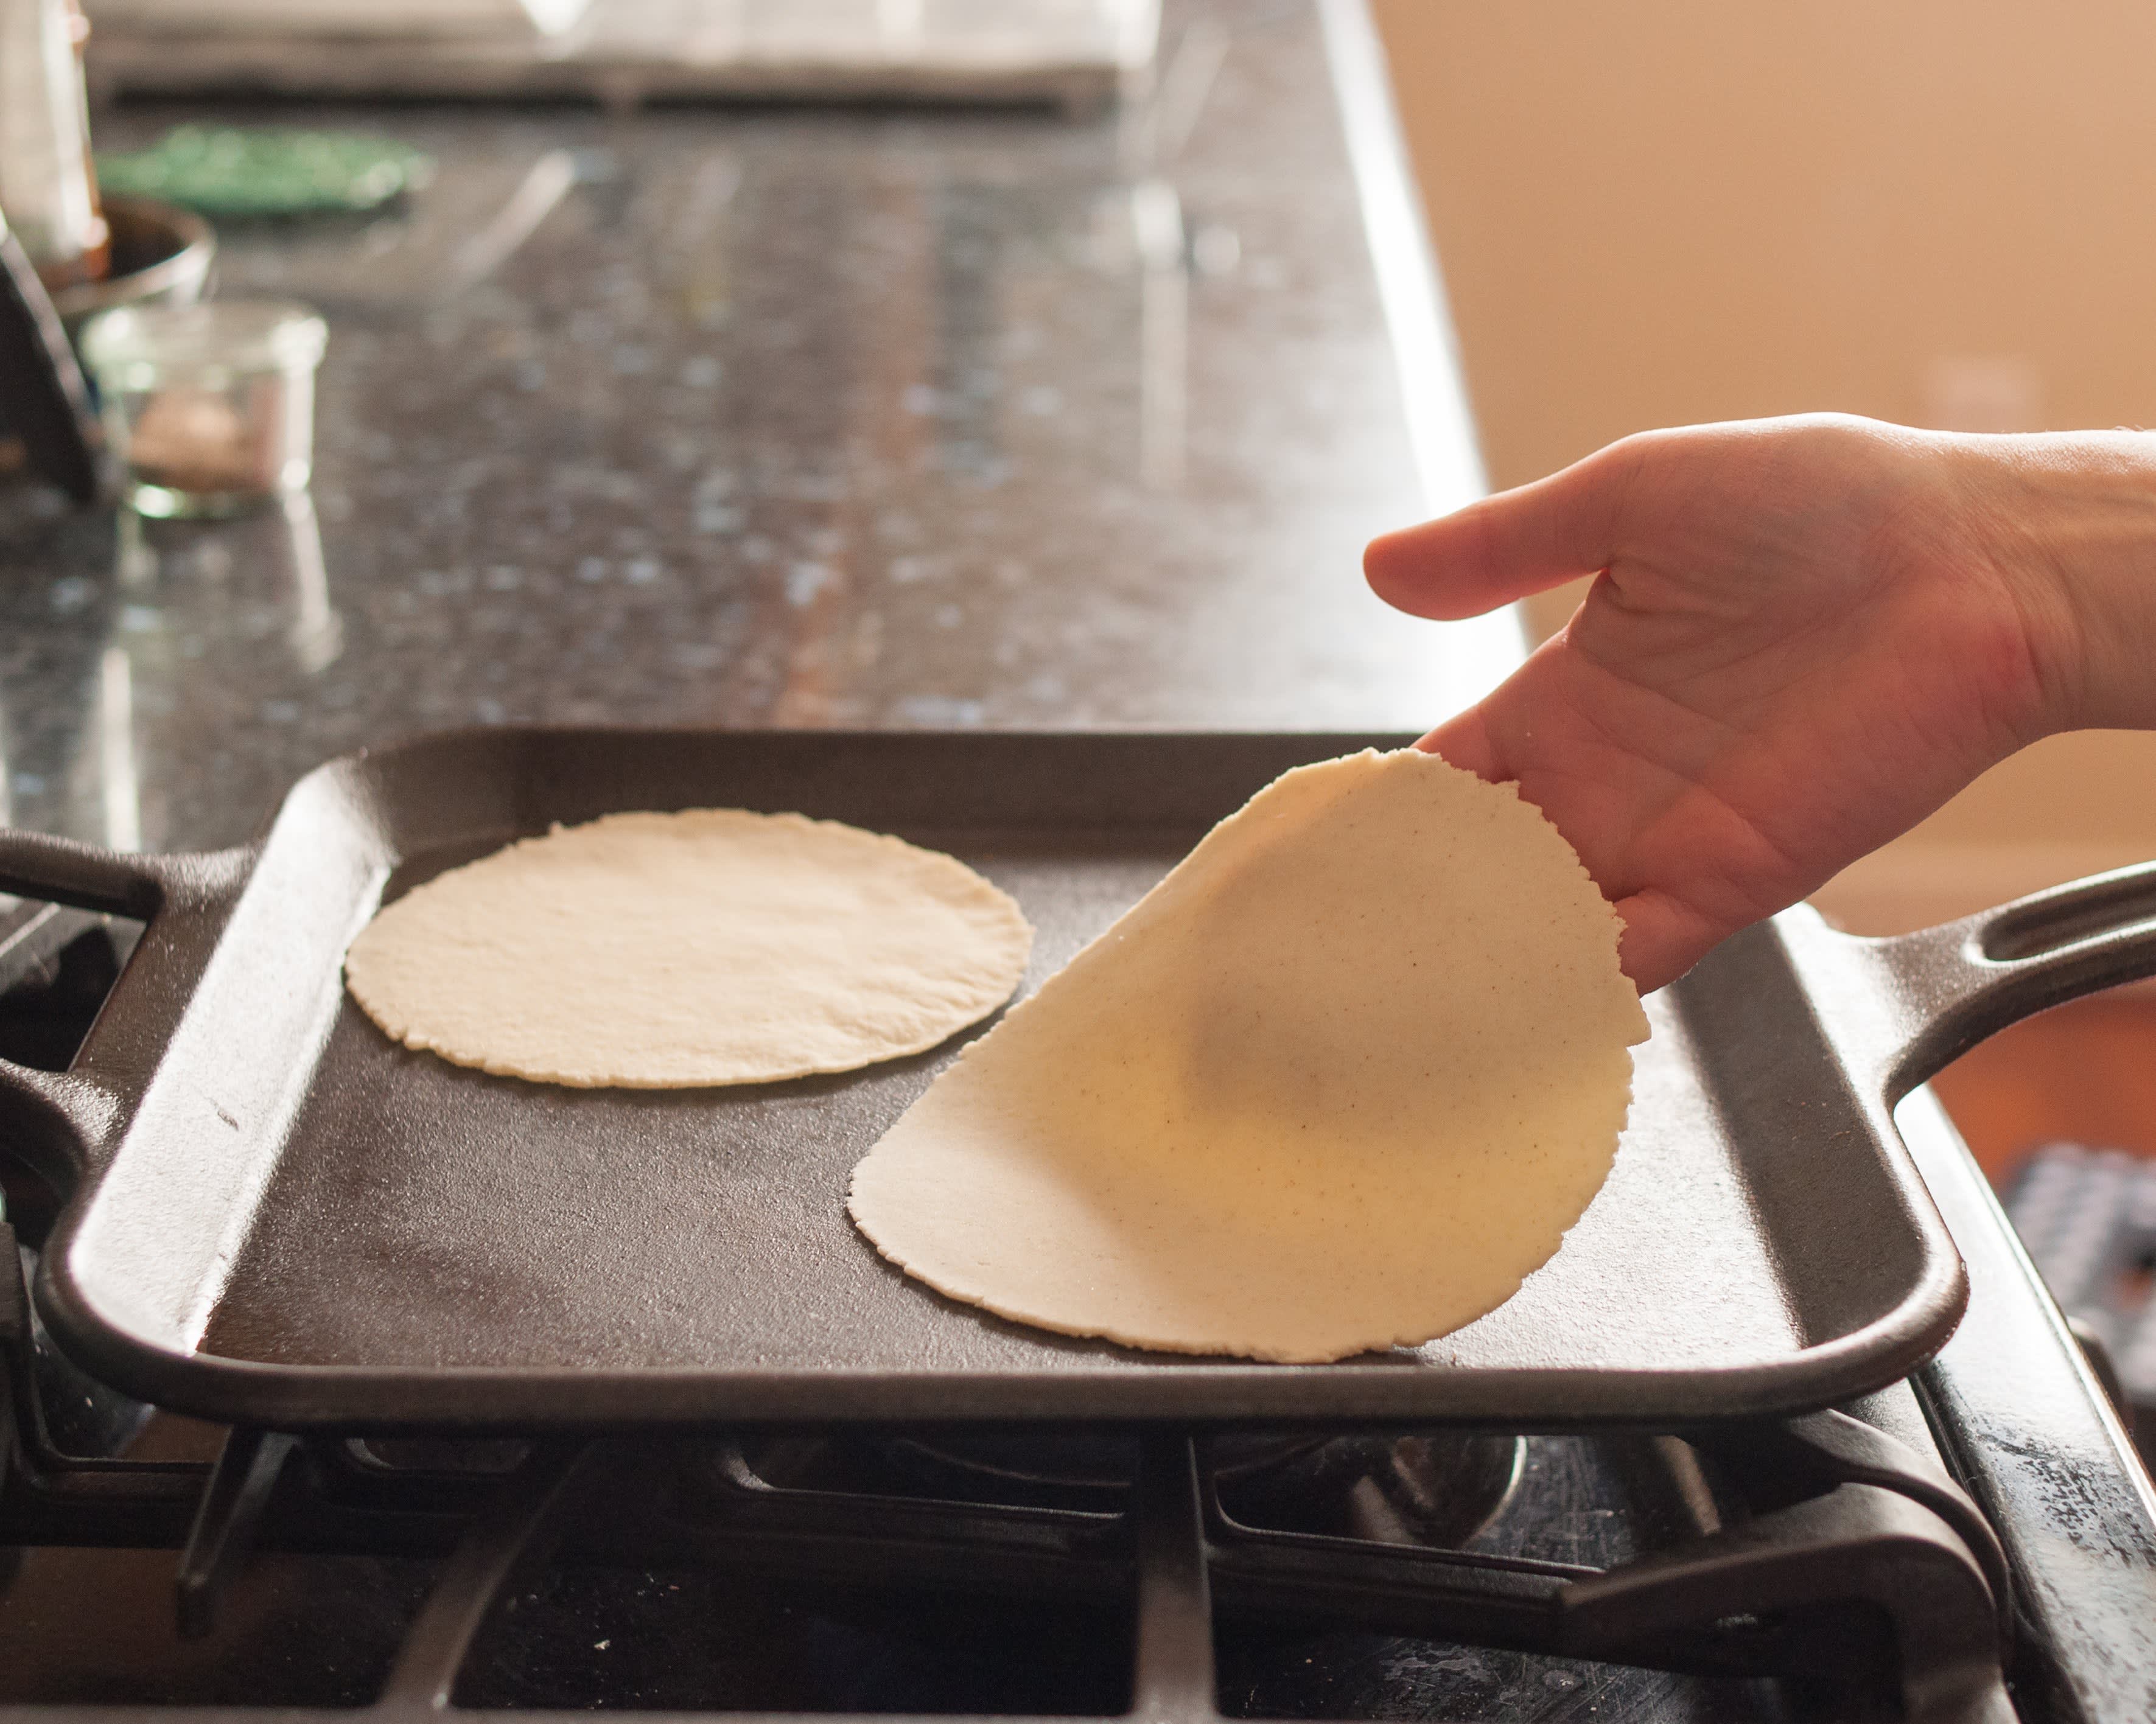
<instances>
[{"instance_id":1,"label":"looped cast iron handle on the griddle's left side","mask_svg":"<svg viewBox=\"0 0 2156 1724\"><path fill-rule=\"evenodd\" d=\"M209 940L205 918L222 922L252 866L252 851L132 856L43 832L0 832L0 892L45 899L144 922L119 987L147 993L177 1021L194 993ZM116 991L116 989L114 989ZM37 1071L0 1060L0 1121L11 1144L63 1194L93 1168L134 1108L149 1060L101 1062L99 1013L69 1071Z\"/></svg>"}]
</instances>

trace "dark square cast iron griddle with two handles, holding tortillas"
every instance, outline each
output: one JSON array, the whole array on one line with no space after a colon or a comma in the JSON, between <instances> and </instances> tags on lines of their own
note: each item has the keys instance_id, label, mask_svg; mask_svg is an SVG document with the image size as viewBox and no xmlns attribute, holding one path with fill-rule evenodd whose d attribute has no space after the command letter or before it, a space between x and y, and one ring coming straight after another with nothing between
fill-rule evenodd
<instances>
[{"instance_id":1,"label":"dark square cast iron griddle with two handles, holding tortillas","mask_svg":"<svg viewBox=\"0 0 2156 1724\"><path fill-rule=\"evenodd\" d=\"M839 1078L563 1090L390 1043L341 957L384 894L552 821L798 808L949 849L1026 987L1289 765L1399 737L485 731L317 769L244 851L0 838L0 888L151 914L75 1069L0 1069L71 1190L39 1297L84 1364L280 1429L722 1420L1701 1420L1906 1375L1960 1261L1889 1103L2156 968L2156 871L1899 942L1809 912L1649 1000L1632 1123L1557 1259L1414 1351L1268 1366L1037 1334L860 1239L854 1162L957 1043ZM606 914L593 905L595 916Z\"/></svg>"}]
</instances>

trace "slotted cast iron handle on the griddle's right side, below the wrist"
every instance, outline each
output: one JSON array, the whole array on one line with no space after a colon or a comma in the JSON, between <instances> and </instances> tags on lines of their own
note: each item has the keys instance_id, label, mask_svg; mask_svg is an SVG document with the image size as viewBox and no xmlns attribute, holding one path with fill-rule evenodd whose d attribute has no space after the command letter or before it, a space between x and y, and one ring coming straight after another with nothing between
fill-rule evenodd
<instances>
[{"instance_id":1,"label":"slotted cast iron handle on the griddle's right side, below the wrist","mask_svg":"<svg viewBox=\"0 0 2156 1724\"><path fill-rule=\"evenodd\" d=\"M1865 950L1899 1019L1880 1043L1889 1101L2022 1017L2156 976L2156 862L2048 892ZM1887 1026L1880 1026L1887 1028Z\"/></svg>"}]
</instances>

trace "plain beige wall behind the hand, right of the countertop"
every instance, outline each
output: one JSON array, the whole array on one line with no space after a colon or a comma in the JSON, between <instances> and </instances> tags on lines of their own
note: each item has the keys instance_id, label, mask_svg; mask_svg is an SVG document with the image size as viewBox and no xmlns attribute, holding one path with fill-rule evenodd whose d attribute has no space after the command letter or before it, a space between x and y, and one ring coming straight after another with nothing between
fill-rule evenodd
<instances>
[{"instance_id":1,"label":"plain beige wall behind the hand, right of the countertop","mask_svg":"<svg viewBox=\"0 0 2156 1724\"><path fill-rule=\"evenodd\" d=\"M2156 425L2156 9L1373 6L1496 485L1751 414ZM1884 929L2137 856L2156 737L2061 737L1828 896Z\"/></svg>"}]
</instances>

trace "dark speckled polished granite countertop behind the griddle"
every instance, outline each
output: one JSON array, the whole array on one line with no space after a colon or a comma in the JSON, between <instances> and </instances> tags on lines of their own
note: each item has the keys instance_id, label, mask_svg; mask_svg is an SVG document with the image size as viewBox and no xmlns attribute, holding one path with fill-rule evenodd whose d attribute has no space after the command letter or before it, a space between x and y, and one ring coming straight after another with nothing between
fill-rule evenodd
<instances>
[{"instance_id":1,"label":"dark speckled polished granite countertop behind the griddle","mask_svg":"<svg viewBox=\"0 0 2156 1724\"><path fill-rule=\"evenodd\" d=\"M233 843L326 756L455 724L1442 715L1445 631L1358 573L1429 461L1319 15L1171 4L1162 50L1091 121L233 110L440 177L222 233L224 295L330 321L308 500L0 485L0 817Z\"/></svg>"}]
</instances>

